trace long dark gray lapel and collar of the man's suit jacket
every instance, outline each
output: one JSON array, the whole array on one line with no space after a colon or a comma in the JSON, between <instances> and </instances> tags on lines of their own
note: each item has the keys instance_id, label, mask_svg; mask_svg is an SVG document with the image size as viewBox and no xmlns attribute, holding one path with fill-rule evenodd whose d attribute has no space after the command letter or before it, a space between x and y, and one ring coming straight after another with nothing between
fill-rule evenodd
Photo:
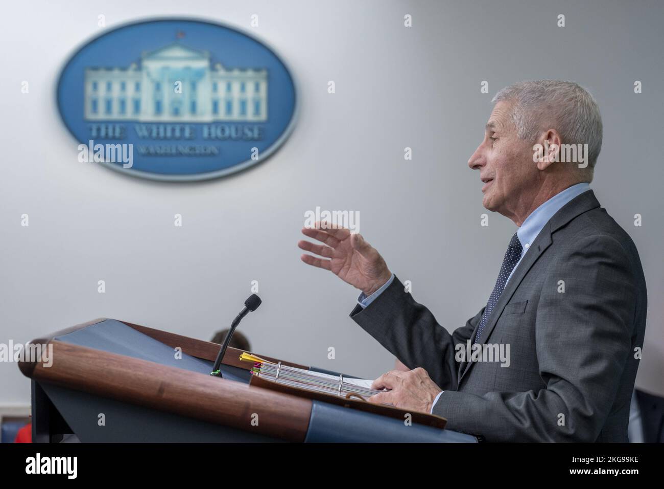
<instances>
[{"instance_id":1,"label":"long dark gray lapel and collar of the man's suit jacket","mask_svg":"<svg viewBox=\"0 0 664 489\"><path fill-rule=\"evenodd\" d=\"M558 230L559 228L570 222L572 219L576 218L577 216L580 216L580 214L583 214L584 212L587 212L588 210L594 209L599 206L600 203L595 198L594 192L592 192L592 190L588 190L587 192L584 192L583 194L576 196L575 198L570 200L570 202L562 206L562 208L560 208L560 210L558 210L558 212L554 214L554 216L549 220L549 222L547 222L544 225L544 228L542 228L540 234L537 235L537 238L535 238L533 244L531 244L531 247L529 247L528 251L523 256L523 259L521 259L521 262L519 263L519 265L517 265L516 269L514 270L514 273L512 274L512 277L507 282L507 285L505 285L503 293L501 293L498 302L496 303L495 307L493 308L493 311L491 312L491 316L489 316L489 321L487 322L487 325L482 330L482 334L479 337L478 343L481 344L487 341L489 335L491 335L491 331L493 331L493 328L498 322L498 319L500 319L500 316L503 313L503 309L505 309L505 306L507 305L507 303L509 303L510 299L512 298L512 295L514 295L515 291L521 284L523 277L526 276L531 267L535 265L537 259L539 259L542 253L546 251L546 248L548 248L552 243L551 235L556 230ZM473 339L475 338L475 334L477 333L478 327L479 327L479 321L475 326L475 329L473 330L471 341L473 341ZM463 365L462 363L459 369L459 371L461 371L461 377L459 377L459 382L457 383L457 386L461 385L463 377L465 377L465 375L473 367L473 363L477 362L464 362L464 363L465 365Z\"/></svg>"}]
</instances>

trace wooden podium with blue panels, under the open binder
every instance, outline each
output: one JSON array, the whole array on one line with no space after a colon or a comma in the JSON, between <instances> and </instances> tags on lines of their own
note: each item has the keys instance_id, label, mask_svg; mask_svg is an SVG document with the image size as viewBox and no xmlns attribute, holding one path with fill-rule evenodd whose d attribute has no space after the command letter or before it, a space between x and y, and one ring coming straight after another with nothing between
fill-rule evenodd
<instances>
[{"instance_id":1,"label":"wooden podium with blue panels, under the open binder","mask_svg":"<svg viewBox=\"0 0 664 489\"><path fill-rule=\"evenodd\" d=\"M32 383L33 442L477 442L439 416L264 381L234 348L224 378L212 377L220 345L126 321L32 343L52 345L52 361L19 363Z\"/></svg>"}]
</instances>

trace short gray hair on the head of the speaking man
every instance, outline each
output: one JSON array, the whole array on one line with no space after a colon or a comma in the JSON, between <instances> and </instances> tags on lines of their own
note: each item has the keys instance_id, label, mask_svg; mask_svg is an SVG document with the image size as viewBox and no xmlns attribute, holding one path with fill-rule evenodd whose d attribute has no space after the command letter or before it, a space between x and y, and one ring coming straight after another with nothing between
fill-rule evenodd
<instances>
[{"instance_id":1,"label":"short gray hair on the head of the speaking man","mask_svg":"<svg viewBox=\"0 0 664 489\"><path fill-rule=\"evenodd\" d=\"M602 116L586 88L568 81L523 81L500 90L491 103L502 100L515 102L512 120L519 138L534 141L540 131L554 128L564 144L588 144L592 172L602 149Z\"/></svg>"}]
</instances>

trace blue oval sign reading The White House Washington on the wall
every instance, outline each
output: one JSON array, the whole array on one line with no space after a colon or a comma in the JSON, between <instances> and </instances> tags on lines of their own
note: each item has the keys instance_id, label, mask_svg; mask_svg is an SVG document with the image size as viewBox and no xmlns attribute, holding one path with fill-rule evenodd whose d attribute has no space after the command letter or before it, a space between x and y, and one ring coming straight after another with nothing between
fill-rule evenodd
<instances>
[{"instance_id":1,"label":"blue oval sign reading The White House Washington on the wall","mask_svg":"<svg viewBox=\"0 0 664 489\"><path fill-rule=\"evenodd\" d=\"M295 82L264 43L198 19L112 29L66 62L56 88L78 161L155 180L248 168L288 138Z\"/></svg>"}]
</instances>

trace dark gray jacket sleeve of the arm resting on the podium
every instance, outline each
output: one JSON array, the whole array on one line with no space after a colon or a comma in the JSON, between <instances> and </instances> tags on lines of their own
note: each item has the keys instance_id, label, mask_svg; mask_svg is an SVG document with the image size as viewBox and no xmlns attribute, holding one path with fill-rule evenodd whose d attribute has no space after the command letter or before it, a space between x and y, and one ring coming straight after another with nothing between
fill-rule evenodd
<instances>
[{"instance_id":1,"label":"dark gray jacket sleeve of the arm resting on the podium","mask_svg":"<svg viewBox=\"0 0 664 489\"><path fill-rule=\"evenodd\" d=\"M547 270L535 345L545 389L445 391L434 414L487 441L594 442L631 351L635 279L623 247L597 235L568 244ZM564 281L564 293L558 292ZM507 367L509 368L509 367Z\"/></svg>"}]
</instances>

